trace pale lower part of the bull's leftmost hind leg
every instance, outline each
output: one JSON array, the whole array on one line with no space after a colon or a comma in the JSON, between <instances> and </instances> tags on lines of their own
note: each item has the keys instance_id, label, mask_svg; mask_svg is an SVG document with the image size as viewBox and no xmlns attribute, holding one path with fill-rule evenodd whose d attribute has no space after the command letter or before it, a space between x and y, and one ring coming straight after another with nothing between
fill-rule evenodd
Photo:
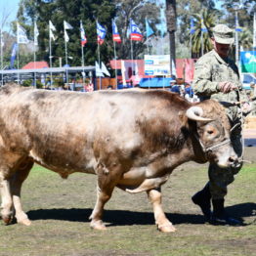
<instances>
[{"instance_id":1,"label":"pale lower part of the bull's leftmost hind leg","mask_svg":"<svg viewBox=\"0 0 256 256\"><path fill-rule=\"evenodd\" d=\"M0 193L2 198L1 217L6 225L10 224L13 219L13 200L10 191L10 182L0 173Z\"/></svg>"}]
</instances>

